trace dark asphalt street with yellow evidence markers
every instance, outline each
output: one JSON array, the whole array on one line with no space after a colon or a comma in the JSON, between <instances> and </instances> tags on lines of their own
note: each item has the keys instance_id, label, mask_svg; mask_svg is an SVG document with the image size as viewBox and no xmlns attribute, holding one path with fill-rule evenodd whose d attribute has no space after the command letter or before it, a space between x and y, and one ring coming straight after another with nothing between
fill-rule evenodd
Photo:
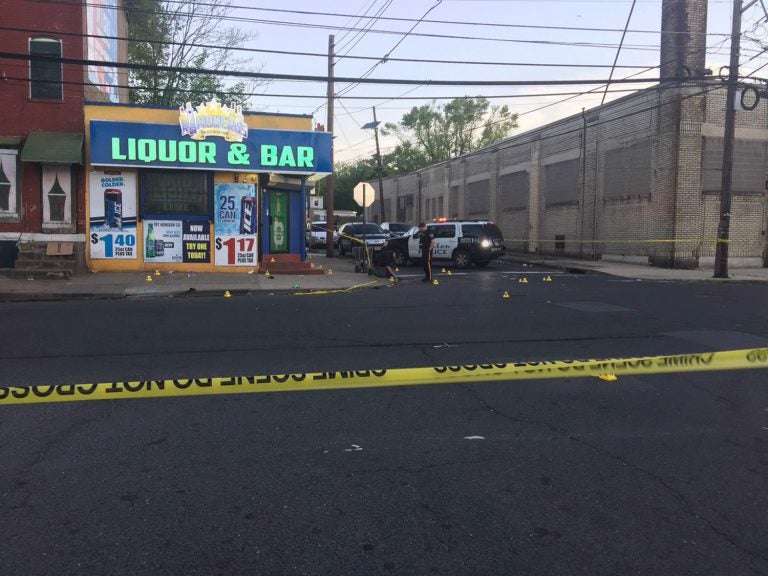
<instances>
[{"instance_id":1,"label":"dark asphalt street with yellow evidence markers","mask_svg":"<svg viewBox=\"0 0 768 576\"><path fill-rule=\"evenodd\" d=\"M402 273L2 304L0 386L768 346L762 285ZM0 574L768 574L764 372L0 406Z\"/></svg>"}]
</instances>

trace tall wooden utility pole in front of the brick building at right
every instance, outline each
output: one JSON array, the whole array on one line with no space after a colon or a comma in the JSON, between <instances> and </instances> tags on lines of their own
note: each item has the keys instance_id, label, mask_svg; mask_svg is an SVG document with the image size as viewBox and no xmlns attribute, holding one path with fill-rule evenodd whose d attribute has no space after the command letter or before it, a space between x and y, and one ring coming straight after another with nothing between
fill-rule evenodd
<instances>
[{"instance_id":1,"label":"tall wooden utility pole in front of the brick building at right","mask_svg":"<svg viewBox=\"0 0 768 576\"><path fill-rule=\"evenodd\" d=\"M755 0L756 1L756 0ZM750 2L747 8L755 2ZM741 48L741 0L733 0L731 23L731 62L725 93L725 133L723 135L723 171L720 186L720 223L715 247L715 278L728 278L728 239L731 228L731 186L733 182L733 147L736 136L736 88L739 80Z\"/></svg>"}]
</instances>

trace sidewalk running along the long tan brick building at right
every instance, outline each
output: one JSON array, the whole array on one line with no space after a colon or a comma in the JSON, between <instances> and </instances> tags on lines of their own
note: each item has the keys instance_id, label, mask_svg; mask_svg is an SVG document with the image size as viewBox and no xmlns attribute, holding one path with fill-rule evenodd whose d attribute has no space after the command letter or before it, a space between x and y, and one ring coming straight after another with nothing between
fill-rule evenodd
<instances>
[{"instance_id":1,"label":"sidewalk running along the long tan brick building at right","mask_svg":"<svg viewBox=\"0 0 768 576\"><path fill-rule=\"evenodd\" d=\"M714 278L712 268L696 270L680 270L672 268L657 268L647 264L631 264L627 262L610 262L606 260L580 260L544 256L540 254L507 253L504 259L510 262L521 262L537 266L546 266L559 270L575 272L595 272L609 274L621 278L636 280L666 280L666 281L712 281L712 282L768 282L768 268L733 268L729 267L730 278Z\"/></svg>"}]
</instances>

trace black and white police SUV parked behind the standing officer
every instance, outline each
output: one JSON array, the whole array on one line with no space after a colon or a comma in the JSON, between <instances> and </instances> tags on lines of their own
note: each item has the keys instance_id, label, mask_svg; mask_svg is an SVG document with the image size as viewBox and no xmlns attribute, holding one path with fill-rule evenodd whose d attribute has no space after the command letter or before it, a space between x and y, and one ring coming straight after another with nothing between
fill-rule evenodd
<instances>
[{"instance_id":1,"label":"black and white police SUV parked behind the standing officer","mask_svg":"<svg viewBox=\"0 0 768 576\"><path fill-rule=\"evenodd\" d=\"M501 230L487 220L431 222L427 228L435 236L433 262L452 262L457 268L467 268L472 264L484 267L506 251ZM421 232L417 229L387 242L396 265L421 260L420 239Z\"/></svg>"}]
</instances>

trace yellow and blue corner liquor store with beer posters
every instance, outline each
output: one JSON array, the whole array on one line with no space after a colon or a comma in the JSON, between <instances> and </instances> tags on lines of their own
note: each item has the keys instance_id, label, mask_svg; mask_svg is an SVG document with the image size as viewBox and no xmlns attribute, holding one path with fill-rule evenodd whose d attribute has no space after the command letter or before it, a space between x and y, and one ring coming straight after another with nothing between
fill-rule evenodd
<instances>
[{"instance_id":1,"label":"yellow and blue corner liquor store with beer posters","mask_svg":"<svg viewBox=\"0 0 768 576\"><path fill-rule=\"evenodd\" d=\"M85 138L90 270L311 271L307 193L332 166L311 116L87 104Z\"/></svg>"}]
</instances>

